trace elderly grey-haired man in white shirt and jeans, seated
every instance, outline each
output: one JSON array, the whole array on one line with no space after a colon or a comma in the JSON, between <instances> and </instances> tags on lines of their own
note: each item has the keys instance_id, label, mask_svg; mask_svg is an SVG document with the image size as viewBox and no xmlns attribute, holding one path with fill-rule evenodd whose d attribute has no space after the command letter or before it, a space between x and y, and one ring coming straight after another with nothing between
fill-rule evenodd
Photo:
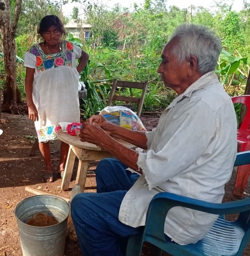
<instances>
[{"instance_id":1,"label":"elderly grey-haired man in white shirt and jeans, seated","mask_svg":"<svg viewBox=\"0 0 250 256\"><path fill-rule=\"evenodd\" d=\"M93 116L81 140L94 143L116 159L96 168L97 193L82 193L72 202L72 218L84 256L120 256L120 246L145 225L150 200L167 191L221 203L236 157L236 118L228 94L214 70L222 45L204 26L178 26L165 46L158 68L164 85L178 96L151 132L139 132ZM119 144L122 138L141 147ZM136 172L128 170L133 169ZM172 208L166 218L167 239L195 243L218 216Z\"/></svg>"}]
</instances>

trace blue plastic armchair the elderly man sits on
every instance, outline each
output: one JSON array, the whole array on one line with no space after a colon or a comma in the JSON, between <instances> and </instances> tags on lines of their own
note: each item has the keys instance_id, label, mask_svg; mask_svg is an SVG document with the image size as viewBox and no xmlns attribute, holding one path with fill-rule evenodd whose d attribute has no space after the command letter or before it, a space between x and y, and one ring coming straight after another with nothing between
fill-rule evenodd
<instances>
[{"instance_id":1,"label":"blue plastic armchair the elderly man sits on","mask_svg":"<svg viewBox=\"0 0 250 256\"><path fill-rule=\"evenodd\" d=\"M250 151L237 153L235 166L250 164ZM164 222L168 211L183 206L220 215L209 233L195 244L179 245L167 242ZM226 221L224 215L240 213L236 221ZM149 242L173 256L240 256L250 238L250 198L228 202L209 203L173 193L160 192L153 197L147 211L143 234L130 236L126 256L140 256L142 245Z\"/></svg>"}]
</instances>

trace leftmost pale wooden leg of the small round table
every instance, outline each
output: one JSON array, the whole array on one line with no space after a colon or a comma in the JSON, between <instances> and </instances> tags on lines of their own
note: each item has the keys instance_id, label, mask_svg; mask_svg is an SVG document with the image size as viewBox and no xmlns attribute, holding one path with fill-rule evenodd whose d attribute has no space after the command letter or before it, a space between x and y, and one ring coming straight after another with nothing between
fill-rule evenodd
<instances>
[{"instance_id":1,"label":"leftmost pale wooden leg of the small round table","mask_svg":"<svg viewBox=\"0 0 250 256\"><path fill-rule=\"evenodd\" d=\"M74 163L75 163L75 153L73 152L72 147L69 146L68 157L65 164L64 175L63 175L62 184L61 184L61 190L63 191L68 190L69 188L69 183L72 176Z\"/></svg>"}]
</instances>

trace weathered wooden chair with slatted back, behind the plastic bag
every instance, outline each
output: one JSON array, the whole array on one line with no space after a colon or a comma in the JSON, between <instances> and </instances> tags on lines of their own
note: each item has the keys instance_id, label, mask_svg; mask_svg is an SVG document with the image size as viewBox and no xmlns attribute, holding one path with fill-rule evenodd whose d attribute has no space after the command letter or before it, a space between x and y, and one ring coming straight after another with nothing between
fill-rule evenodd
<instances>
[{"instance_id":1,"label":"weathered wooden chair with slatted back, behind the plastic bag","mask_svg":"<svg viewBox=\"0 0 250 256\"><path fill-rule=\"evenodd\" d=\"M115 91L117 90L117 87L123 87L123 88L134 88L134 89L141 89L142 94L140 98L133 97L133 96L121 96L116 95ZM148 88L148 83L139 83L139 82L129 82L129 81L121 81L121 80L114 80L112 83L112 89L109 96L108 106L111 106L113 101L125 101L130 103L136 103L138 104L138 110L137 110L137 116L141 116L142 107L144 103L144 99L146 96Z\"/></svg>"}]
</instances>

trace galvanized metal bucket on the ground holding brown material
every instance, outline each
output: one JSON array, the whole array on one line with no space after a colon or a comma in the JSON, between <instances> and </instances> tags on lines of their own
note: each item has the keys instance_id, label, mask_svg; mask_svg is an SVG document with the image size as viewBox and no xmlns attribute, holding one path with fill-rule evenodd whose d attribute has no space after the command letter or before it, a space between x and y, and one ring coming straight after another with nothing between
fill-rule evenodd
<instances>
[{"instance_id":1,"label":"galvanized metal bucket on the ground holding brown material","mask_svg":"<svg viewBox=\"0 0 250 256\"><path fill-rule=\"evenodd\" d=\"M58 224L34 227L26 224L34 214L43 212L58 220ZM38 195L16 205L15 217L23 256L63 256L65 250L69 205L59 197Z\"/></svg>"}]
</instances>

